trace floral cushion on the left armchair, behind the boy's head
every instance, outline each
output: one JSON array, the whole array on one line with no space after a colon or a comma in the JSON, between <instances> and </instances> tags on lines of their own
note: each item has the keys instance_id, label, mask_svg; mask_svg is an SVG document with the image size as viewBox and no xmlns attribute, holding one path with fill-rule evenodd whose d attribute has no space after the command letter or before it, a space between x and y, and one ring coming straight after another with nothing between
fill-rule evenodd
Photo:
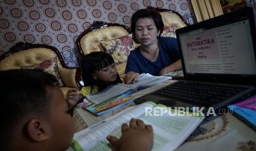
<instances>
[{"instance_id":1,"label":"floral cushion on the left armchair, behind the boy's head","mask_svg":"<svg viewBox=\"0 0 256 151\"><path fill-rule=\"evenodd\" d=\"M44 61L40 63L39 65L34 66L21 66L21 69L42 69L43 71L50 73L52 75L55 75L56 79L58 80L58 86L62 87L64 86L61 75L58 71L58 65L57 65L57 57L53 57L50 60Z\"/></svg>"}]
</instances>

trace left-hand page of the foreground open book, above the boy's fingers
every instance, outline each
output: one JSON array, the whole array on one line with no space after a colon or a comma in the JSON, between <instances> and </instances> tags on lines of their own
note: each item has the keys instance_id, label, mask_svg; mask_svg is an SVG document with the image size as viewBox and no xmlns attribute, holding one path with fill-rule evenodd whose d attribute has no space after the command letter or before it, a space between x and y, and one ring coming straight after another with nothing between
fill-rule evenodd
<instances>
[{"instance_id":1,"label":"left-hand page of the foreground open book, above the boy's fingers","mask_svg":"<svg viewBox=\"0 0 256 151\"><path fill-rule=\"evenodd\" d=\"M105 141L107 135L119 129L123 123L129 123L130 119L138 118L141 114L144 114L145 107L152 107L152 105L149 103L140 104L139 106L129 108L125 112L118 113L106 121L102 121L103 124L92 125L88 129L75 133L75 143L78 143L84 150L96 146L97 143Z\"/></svg>"}]
</instances>

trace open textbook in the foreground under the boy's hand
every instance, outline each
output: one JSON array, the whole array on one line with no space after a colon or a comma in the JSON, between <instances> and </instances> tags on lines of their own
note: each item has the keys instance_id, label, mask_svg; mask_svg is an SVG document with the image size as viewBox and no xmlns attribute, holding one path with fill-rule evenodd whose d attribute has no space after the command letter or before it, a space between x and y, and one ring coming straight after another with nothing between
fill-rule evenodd
<instances>
[{"instance_id":1,"label":"open textbook in the foreground under the boy's hand","mask_svg":"<svg viewBox=\"0 0 256 151\"><path fill-rule=\"evenodd\" d=\"M141 119L145 124L152 125L154 143L151 150L174 150L186 140L204 119L201 115L194 117L178 116L179 114L170 115L173 110L168 110L168 112L160 114L160 116L147 115L146 111L150 111L153 107L165 106L157 105L153 102L145 102L75 133L72 143L73 150L111 150L106 137L108 135L121 137L121 125L123 123L129 124L129 120L132 118Z\"/></svg>"}]
</instances>

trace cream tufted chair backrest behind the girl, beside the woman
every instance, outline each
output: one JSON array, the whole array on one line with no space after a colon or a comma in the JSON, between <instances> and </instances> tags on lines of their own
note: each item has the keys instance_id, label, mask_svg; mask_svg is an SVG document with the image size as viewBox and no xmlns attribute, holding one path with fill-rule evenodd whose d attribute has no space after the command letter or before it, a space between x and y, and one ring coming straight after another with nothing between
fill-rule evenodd
<instances>
[{"instance_id":1,"label":"cream tufted chair backrest behind the girl, beside the woman","mask_svg":"<svg viewBox=\"0 0 256 151\"><path fill-rule=\"evenodd\" d=\"M125 25L95 21L87 30L80 34L77 39L77 47L82 56L92 51L104 51L101 40L110 40L126 36L132 33ZM126 62L117 65L119 75L124 73Z\"/></svg>"}]
</instances>

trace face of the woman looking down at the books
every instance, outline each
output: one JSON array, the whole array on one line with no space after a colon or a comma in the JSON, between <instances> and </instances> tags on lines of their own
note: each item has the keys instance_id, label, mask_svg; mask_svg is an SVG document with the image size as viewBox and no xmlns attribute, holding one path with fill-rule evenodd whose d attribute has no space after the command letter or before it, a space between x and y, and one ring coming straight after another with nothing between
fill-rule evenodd
<instances>
[{"instance_id":1,"label":"face of the woman looking down at the books","mask_svg":"<svg viewBox=\"0 0 256 151\"><path fill-rule=\"evenodd\" d=\"M156 43L159 33L152 18L141 18L137 20L135 37L141 45L148 46Z\"/></svg>"}]
</instances>

